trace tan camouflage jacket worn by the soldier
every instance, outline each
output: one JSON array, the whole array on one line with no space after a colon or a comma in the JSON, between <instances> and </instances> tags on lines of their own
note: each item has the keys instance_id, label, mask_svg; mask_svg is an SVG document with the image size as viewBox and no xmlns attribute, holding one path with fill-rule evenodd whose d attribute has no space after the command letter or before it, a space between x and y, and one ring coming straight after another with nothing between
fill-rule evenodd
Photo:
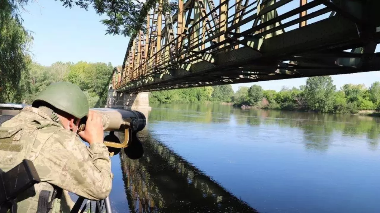
<instances>
[{"instance_id":1,"label":"tan camouflage jacket worn by the soldier","mask_svg":"<svg viewBox=\"0 0 380 213\"><path fill-rule=\"evenodd\" d=\"M0 168L8 171L24 158L34 163L41 183L35 185L35 192L18 198L18 212L35 212L39 192L52 191L47 185L62 188L65 202L70 202L67 191L91 200L104 199L111 191L107 147L103 143L86 146L76 133L63 128L49 108L27 106L0 127ZM59 211L56 208L53 212Z\"/></svg>"}]
</instances>

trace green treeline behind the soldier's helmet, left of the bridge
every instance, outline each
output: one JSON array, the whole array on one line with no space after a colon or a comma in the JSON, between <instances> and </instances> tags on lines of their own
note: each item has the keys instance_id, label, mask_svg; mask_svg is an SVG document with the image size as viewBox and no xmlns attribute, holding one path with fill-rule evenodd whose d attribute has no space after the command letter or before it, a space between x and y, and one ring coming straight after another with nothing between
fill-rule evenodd
<instances>
[{"instance_id":1,"label":"green treeline behind the soldier's helmet, left of the bridge","mask_svg":"<svg viewBox=\"0 0 380 213\"><path fill-rule=\"evenodd\" d=\"M3 93L3 96L0 96L0 102L31 104L36 95L49 84L70 81L84 91L90 107L104 107L113 68L111 63L84 61L56 62L51 66L30 63L27 72L23 73L20 80L20 89L16 92Z\"/></svg>"}]
</instances>

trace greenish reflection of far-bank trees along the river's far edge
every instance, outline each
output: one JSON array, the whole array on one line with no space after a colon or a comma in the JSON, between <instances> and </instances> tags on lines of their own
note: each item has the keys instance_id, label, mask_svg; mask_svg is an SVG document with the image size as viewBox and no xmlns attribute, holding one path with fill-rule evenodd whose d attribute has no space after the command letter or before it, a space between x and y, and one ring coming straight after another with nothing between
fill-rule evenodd
<instances>
[{"instance_id":1,"label":"greenish reflection of far-bank trees along the river's far edge","mask_svg":"<svg viewBox=\"0 0 380 213\"><path fill-rule=\"evenodd\" d=\"M291 128L289 131L302 131L302 143L308 150L328 150L337 135L340 137L339 141L343 143L350 137L365 137L370 150L378 149L380 117L278 110L240 110L229 105L212 104L168 104L152 107L154 110L149 114L152 122L200 122L226 125L236 123L265 129Z\"/></svg>"}]
</instances>

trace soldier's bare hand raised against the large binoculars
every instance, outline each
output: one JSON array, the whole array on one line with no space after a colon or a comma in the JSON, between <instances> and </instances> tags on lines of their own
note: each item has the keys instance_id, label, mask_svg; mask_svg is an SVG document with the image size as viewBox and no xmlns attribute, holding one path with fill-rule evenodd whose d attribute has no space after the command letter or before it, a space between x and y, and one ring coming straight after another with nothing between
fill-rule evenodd
<instances>
[{"instance_id":1,"label":"soldier's bare hand raised against the large binoculars","mask_svg":"<svg viewBox=\"0 0 380 213\"><path fill-rule=\"evenodd\" d=\"M93 143L103 143L104 132L100 115L90 110L87 117L86 128L84 131L79 132L78 135L90 145Z\"/></svg>"}]
</instances>

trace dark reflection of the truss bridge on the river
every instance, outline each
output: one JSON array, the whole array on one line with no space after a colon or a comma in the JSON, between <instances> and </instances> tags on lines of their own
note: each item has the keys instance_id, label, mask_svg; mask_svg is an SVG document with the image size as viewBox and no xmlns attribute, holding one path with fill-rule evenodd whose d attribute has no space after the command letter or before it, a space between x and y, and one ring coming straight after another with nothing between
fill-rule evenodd
<instances>
[{"instance_id":1,"label":"dark reflection of the truss bridge on the river","mask_svg":"<svg viewBox=\"0 0 380 213\"><path fill-rule=\"evenodd\" d=\"M142 130L139 138L144 144L142 158L131 160L120 152L131 212L258 213L165 144L155 141L147 130Z\"/></svg>"}]
</instances>

